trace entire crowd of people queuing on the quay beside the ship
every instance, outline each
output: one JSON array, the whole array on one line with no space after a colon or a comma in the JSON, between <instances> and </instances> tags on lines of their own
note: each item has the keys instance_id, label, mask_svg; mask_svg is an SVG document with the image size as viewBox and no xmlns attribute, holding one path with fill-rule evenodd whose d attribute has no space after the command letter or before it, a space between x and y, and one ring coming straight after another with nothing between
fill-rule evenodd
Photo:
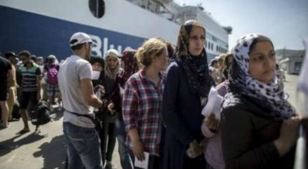
<instances>
[{"instance_id":1,"label":"entire crowd of people queuing on the quay beside the ship","mask_svg":"<svg viewBox=\"0 0 308 169\"><path fill-rule=\"evenodd\" d=\"M27 104L41 99L41 74L47 73L49 103L54 97L63 102L68 169L116 168L116 139L123 169L139 169L135 162L145 160L148 169L293 168L302 119L276 76L272 41L245 35L208 65L205 36L199 21L188 20L175 52L154 37L123 54L110 49L91 56L94 42L77 32L69 40L73 54L60 65L49 56L43 71L29 52L20 52L20 133L29 131ZM0 101L7 127L6 93L14 95L17 71L0 61L1 86L9 91ZM212 90L221 102L208 101ZM219 107L219 118L214 110L201 114L208 104Z\"/></svg>"}]
</instances>

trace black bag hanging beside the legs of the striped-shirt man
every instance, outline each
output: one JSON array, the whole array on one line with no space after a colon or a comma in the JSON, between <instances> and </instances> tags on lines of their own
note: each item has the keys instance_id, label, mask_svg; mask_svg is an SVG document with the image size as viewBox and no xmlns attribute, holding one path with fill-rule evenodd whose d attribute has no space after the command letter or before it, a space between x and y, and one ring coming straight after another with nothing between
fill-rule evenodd
<instances>
[{"instance_id":1,"label":"black bag hanging beside the legs of the striped-shirt man","mask_svg":"<svg viewBox=\"0 0 308 169\"><path fill-rule=\"evenodd\" d=\"M30 111L32 124L43 125L48 123L51 120L49 112L49 105L45 101L40 101L37 106Z\"/></svg>"}]
</instances>

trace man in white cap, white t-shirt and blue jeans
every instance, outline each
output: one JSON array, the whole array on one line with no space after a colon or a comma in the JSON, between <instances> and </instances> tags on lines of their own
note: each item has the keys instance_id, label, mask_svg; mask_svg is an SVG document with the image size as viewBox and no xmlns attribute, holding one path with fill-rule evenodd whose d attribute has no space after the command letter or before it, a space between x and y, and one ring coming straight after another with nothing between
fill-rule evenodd
<instances>
[{"instance_id":1,"label":"man in white cap, white t-shirt and blue jeans","mask_svg":"<svg viewBox=\"0 0 308 169\"><path fill-rule=\"evenodd\" d=\"M61 64L58 84L63 99L63 132L66 138L68 169L102 169L99 137L93 122L93 107L103 102L94 94L91 57L93 41L77 32L70 39L73 55Z\"/></svg>"}]
</instances>

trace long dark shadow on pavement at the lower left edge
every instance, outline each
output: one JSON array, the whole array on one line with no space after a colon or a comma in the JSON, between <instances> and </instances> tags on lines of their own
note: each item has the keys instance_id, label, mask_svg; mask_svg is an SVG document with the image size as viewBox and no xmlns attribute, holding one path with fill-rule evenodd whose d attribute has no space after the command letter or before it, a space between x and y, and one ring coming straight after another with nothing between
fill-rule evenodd
<instances>
[{"instance_id":1,"label":"long dark shadow on pavement at the lower left edge","mask_svg":"<svg viewBox=\"0 0 308 169\"><path fill-rule=\"evenodd\" d=\"M10 153L11 151L17 149L18 147L36 142L36 141L41 140L41 139L46 137L46 136L42 136L42 135L32 133L32 134L26 136L25 138L22 138L22 139L15 142L14 140L17 139L20 136L22 136L22 135L16 135L16 136L14 136L14 137L12 137L8 140L4 140L4 141L1 142L2 147L0 149L0 157Z\"/></svg>"}]
</instances>

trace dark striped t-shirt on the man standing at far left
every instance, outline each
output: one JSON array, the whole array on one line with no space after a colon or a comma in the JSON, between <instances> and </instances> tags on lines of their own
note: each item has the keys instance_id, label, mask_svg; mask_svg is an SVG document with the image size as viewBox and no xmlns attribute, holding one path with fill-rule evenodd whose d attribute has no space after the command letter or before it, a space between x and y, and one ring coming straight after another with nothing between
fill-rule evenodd
<instances>
[{"instance_id":1,"label":"dark striped t-shirt on the man standing at far left","mask_svg":"<svg viewBox=\"0 0 308 169\"><path fill-rule=\"evenodd\" d=\"M22 74L22 91L37 91L36 77L41 75L39 66L32 62L32 67L27 69L22 64L20 70Z\"/></svg>"}]
</instances>

